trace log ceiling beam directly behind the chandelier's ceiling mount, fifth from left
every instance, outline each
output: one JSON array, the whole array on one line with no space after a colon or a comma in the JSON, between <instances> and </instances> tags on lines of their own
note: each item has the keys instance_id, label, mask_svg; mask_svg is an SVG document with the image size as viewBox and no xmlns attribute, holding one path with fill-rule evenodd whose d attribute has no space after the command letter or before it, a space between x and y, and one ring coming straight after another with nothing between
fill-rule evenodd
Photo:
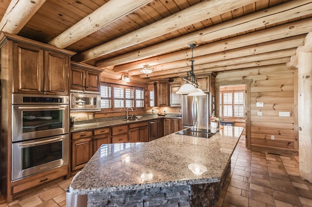
<instances>
[{"instance_id":1,"label":"log ceiling beam directly behind the chandelier's ceiling mount, fifth from left","mask_svg":"<svg viewBox=\"0 0 312 207\"><path fill-rule=\"evenodd\" d=\"M231 49L242 48L249 45L260 44L262 42L269 43L269 41L271 40L278 41L278 39L287 38L289 36L307 34L311 31L311 28L312 28L312 18L304 19L301 21L280 25L266 30L260 30L254 33L240 35L226 40L220 40L218 42L198 46L194 49L195 50L194 56L196 58L197 57L196 54L199 55L211 54L214 52L228 51ZM170 54L164 54L157 57L152 57L141 61L116 66L114 67L114 71L122 72L133 70L138 69L144 65L150 66L160 65L168 62L187 59L190 58L190 55L191 54L189 49L178 52L172 52Z\"/></svg>"}]
</instances>

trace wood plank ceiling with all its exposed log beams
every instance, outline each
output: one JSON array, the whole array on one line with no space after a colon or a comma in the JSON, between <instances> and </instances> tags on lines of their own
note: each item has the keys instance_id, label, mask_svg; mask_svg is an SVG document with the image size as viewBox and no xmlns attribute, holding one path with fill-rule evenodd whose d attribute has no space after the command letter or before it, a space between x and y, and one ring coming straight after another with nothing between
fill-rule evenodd
<instances>
[{"instance_id":1,"label":"wood plank ceiling with all its exposed log beams","mask_svg":"<svg viewBox=\"0 0 312 207\"><path fill-rule=\"evenodd\" d=\"M312 31L312 0L0 0L0 29L77 52L138 82L286 64ZM154 68L146 77L143 65Z\"/></svg>"}]
</instances>

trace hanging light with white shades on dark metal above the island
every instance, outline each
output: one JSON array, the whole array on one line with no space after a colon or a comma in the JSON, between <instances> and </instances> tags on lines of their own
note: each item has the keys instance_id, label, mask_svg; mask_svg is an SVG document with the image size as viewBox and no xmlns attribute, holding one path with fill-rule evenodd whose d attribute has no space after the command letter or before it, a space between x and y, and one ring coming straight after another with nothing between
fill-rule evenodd
<instances>
[{"instance_id":1,"label":"hanging light with white shades on dark metal above the island","mask_svg":"<svg viewBox=\"0 0 312 207\"><path fill-rule=\"evenodd\" d=\"M183 84L176 94L188 94L188 96L206 96L207 94L198 87L197 78L194 74L194 56L193 49L196 47L196 44L190 44L189 48L192 49L192 59L191 59L191 70L187 72L186 76L183 78L185 84Z\"/></svg>"}]
</instances>

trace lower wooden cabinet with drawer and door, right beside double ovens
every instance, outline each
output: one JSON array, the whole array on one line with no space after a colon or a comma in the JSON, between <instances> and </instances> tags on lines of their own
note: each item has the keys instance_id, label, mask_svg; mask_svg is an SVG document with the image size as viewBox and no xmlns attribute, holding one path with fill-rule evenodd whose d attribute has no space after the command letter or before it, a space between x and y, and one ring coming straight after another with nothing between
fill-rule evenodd
<instances>
[{"instance_id":1,"label":"lower wooden cabinet with drawer and door, right beside double ovens","mask_svg":"<svg viewBox=\"0 0 312 207\"><path fill-rule=\"evenodd\" d=\"M93 154L92 130L72 133L72 171L83 168Z\"/></svg>"}]
</instances>

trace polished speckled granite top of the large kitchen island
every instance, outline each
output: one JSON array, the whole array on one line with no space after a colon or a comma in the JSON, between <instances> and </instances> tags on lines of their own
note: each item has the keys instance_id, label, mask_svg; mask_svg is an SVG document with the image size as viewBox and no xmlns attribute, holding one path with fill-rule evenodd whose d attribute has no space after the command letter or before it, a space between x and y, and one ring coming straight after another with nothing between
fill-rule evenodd
<instances>
[{"instance_id":1,"label":"polished speckled granite top of the large kitchen island","mask_svg":"<svg viewBox=\"0 0 312 207\"><path fill-rule=\"evenodd\" d=\"M219 182L242 131L225 126L209 139L171 134L150 142L104 144L73 179L70 191L92 194ZM195 175L190 164L207 171ZM153 178L146 181L144 174Z\"/></svg>"}]
</instances>

